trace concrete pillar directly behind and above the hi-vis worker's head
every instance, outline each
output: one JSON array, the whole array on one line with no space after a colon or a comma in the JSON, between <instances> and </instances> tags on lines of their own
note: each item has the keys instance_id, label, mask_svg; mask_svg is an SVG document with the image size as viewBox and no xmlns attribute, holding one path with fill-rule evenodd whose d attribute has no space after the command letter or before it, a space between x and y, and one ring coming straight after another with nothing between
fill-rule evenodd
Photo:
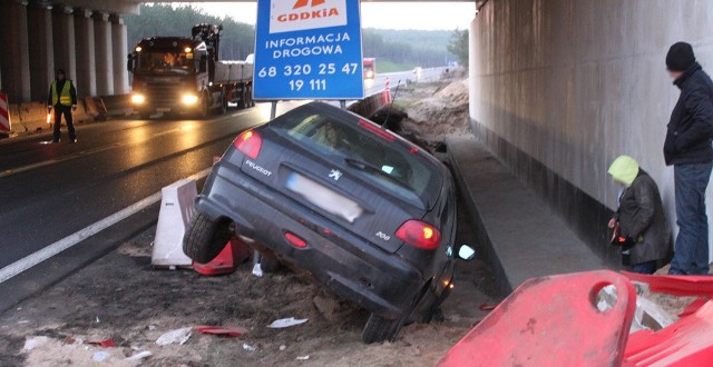
<instances>
[{"instance_id":1,"label":"concrete pillar directly behind and above the hi-vis worker's head","mask_svg":"<svg viewBox=\"0 0 713 367\"><path fill-rule=\"evenodd\" d=\"M67 78L77 78L77 48L75 47L74 9L65 6L52 7L52 46L55 69L62 69ZM53 73L52 73L53 77Z\"/></svg>"}]
</instances>

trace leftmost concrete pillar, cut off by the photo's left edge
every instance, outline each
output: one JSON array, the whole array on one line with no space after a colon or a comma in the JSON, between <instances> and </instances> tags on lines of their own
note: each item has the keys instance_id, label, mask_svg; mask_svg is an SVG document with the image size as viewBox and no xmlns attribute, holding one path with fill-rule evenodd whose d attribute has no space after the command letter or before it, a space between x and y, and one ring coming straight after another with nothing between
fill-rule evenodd
<instances>
[{"instance_id":1,"label":"leftmost concrete pillar, cut off by the photo's left edge","mask_svg":"<svg viewBox=\"0 0 713 367\"><path fill-rule=\"evenodd\" d=\"M2 2L0 10L0 73L10 102L30 100L30 57L27 36L27 1Z\"/></svg>"}]
</instances>

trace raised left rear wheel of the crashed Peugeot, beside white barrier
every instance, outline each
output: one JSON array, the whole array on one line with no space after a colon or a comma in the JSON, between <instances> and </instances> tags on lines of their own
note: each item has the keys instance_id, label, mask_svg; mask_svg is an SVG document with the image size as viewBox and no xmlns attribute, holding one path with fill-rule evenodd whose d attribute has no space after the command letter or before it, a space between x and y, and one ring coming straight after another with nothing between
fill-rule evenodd
<instances>
[{"instance_id":1,"label":"raised left rear wheel of the crashed Peugeot, beside white barrier","mask_svg":"<svg viewBox=\"0 0 713 367\"><path fill-rule=\"evenodd\" d=\"M209 262L233 237L229 227L228 220L214 221L196 211L183 237L183 251L196 262Z\"/></svg>"}]
</instances>

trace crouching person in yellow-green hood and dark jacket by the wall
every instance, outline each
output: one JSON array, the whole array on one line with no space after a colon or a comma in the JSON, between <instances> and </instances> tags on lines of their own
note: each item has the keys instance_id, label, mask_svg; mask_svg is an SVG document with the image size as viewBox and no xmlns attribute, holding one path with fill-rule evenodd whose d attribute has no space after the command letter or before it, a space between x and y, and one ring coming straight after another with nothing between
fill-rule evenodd
<instances>
[{"instance_id":1,"label":"crouching person in yellow-green hood and dark jacket by the wall","mask_svg":"<svg viewBox=\"0 0 713 367\"><path fill-rule=\"evenodd\" d=\"M609 221L616 244L622 246L622 262L634 272L653 274L671 246L671 227L658 187L628 156L616 158L608 172L624 188L616 215Z\"/></svg>"}]
</instances>

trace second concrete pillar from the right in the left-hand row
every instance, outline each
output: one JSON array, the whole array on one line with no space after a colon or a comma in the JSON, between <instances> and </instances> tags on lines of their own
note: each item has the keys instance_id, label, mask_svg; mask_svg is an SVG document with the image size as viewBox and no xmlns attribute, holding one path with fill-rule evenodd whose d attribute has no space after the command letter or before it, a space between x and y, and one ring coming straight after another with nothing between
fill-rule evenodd
<instances>
[{"instance_id":1,"label":"second concrete pillar from the right in the left-hand row","mask_svg":"<svg viewBox=\"0 0 713 367\"><path fill-rule=\"evenodd\" d=\"M111 23L106 12L95 12L94 47L97 68L97 95L114 95L114 48L111 44Z\"/></svg>"}]
</instances>

